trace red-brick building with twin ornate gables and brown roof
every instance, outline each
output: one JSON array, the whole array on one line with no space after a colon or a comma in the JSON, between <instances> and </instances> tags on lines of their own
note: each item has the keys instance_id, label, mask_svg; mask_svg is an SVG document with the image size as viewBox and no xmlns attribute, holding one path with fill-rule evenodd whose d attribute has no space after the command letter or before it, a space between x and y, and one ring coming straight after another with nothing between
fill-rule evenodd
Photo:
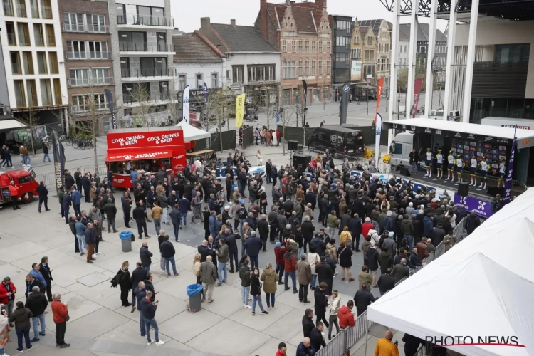
<instances>
[{"instance_id":1,"label":"red-brick building with twin ornate gables and brown roof","mask_svg":"<svg viewBox=\"0 0 534 356\"><path fill-rule=\"evenodd\" d=\"M283 4L260 0L255 26L281 52L283 105L300 102L302 80L308 83L308 105L330 100L332 29L326 0Z\"/></svg>"}]
</instances>

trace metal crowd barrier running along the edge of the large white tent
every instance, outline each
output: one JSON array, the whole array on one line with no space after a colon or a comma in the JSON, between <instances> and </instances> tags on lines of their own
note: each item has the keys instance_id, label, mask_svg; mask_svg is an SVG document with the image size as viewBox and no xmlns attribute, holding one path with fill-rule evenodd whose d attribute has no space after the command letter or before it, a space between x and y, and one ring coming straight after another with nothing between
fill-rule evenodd
<instances>
[{"instance_id":1,"label":"metal crowd barrier running along the edge of the large white tent","mask_svg":"<svg viewBox=\"0 0 534 356\"><path fill-rule=\"evenodd\" d=\"M453 230L454 241L453 244L457 244L464 236L464 226L465 219L456 224L456 227ZM440 243L436 246L436 250L433 251L430 256L424 258L422 261L423 266L417 266L416 268L410 268L410 276L414 275L420 271L424 266L429 264L431 261L434 261L439 256L445 253L445 246L443 243ZM395 283L395 287L399 286L400 283L406 281L408 277L402 278L400 281ZM387 292L386 292L387 293ZM385 295L385 293L384 293ZM365 337L367 332L372 328L376 323L370 320L367 320L367 310L362 313L355 320L355 326L352 328L346 328L341 330L341 332L326 344L325 347L321 348L315 355L316 356L345 356L347 352L354 346L358 341ZM418 351L416 356L425 356L428 355L427 350L429 350L429 345L423 345ZM374 346L373 346L374 347Z\"/></svg>"}]
</instances>

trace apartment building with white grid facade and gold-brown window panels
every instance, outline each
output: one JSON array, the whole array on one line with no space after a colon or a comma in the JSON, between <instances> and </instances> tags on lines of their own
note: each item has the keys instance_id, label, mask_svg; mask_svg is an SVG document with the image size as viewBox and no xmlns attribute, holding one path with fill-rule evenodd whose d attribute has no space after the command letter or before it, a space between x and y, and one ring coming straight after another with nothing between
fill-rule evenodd
<instances>
[{"instance_id":1,"label":"apartment building with white grid facade and gold-brown window panels","mask_svg":"<svg viewBox=\"0 0 534 356\"><path fill-rule=\"evenodd\" d=\"M2 0L1 48L15 117L68 125L60 19L58 1Z\"/></svg>"}]
</instances>

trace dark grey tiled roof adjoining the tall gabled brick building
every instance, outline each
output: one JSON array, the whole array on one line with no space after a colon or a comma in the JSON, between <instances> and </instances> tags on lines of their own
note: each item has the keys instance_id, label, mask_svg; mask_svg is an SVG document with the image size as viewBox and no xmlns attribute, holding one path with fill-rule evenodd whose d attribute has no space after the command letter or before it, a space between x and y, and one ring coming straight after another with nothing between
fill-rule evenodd
<instances>
[{"instance_id":1,"label":"dark grey tiled roof adjoining the tall gabled brick building","mask_svg":"<svg viewBox=\"0 0 534 356\"><path fill-rule=\"evenodd\" d=\"M229 52L277 52L260 31L253 26L233 26L223 23L211 23Z\"/></svg>"}]
</instances>

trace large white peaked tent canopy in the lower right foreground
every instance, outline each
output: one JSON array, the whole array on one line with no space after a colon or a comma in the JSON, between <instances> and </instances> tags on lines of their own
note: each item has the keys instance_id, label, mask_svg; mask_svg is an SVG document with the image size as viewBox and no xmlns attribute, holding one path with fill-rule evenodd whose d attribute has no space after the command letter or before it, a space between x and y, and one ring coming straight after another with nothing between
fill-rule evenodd
<instances>
[{"instance_id":1,"label":"large white peaked tent canopy in the lower right foreground","mask_svg":"<svg viewBox=\"0 0 534 356\"><path fill-rule=\"evenodd\" d=\"M534 256L533 195L529 189L372 303L367 318L422 339L517 336L526 346L449 347L464 355L534 355L534 271L528 264Z\"/></svg>"}]
</instances>

